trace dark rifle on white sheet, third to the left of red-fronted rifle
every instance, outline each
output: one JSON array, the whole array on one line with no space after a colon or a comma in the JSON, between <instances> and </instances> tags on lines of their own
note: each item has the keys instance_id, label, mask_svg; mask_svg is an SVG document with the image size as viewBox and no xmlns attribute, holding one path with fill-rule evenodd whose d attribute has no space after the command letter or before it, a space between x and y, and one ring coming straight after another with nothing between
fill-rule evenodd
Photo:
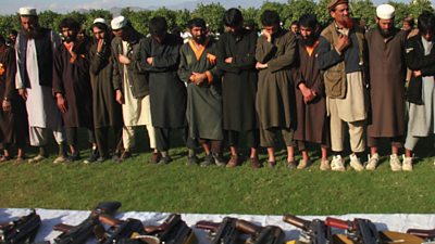
<instances>
[{"instance_id":1,"label":"dark rifle on white sheet, third to the left of red-fronted rifle","mask_svg":"<svg viewBox=\"0 0 435 244\"><path fill-rule=\"evenodd\" d=\"M222 222L198 221L195 227L210 232L211 244L238 244L243 235L236 228L237 219L225 217Z\"/></svg>"}]
</instances>

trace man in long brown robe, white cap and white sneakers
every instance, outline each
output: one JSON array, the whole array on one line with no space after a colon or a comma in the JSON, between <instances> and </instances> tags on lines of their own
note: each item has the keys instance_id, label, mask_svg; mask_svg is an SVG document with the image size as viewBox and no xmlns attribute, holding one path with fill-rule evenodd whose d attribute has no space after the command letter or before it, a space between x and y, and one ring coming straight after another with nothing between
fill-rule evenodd
<instances>
[{"instance_id":1,"label":"man in long brown robe, white cap and white sneakers","mask_svg":"<svg viewBox=\"0 0 435 244\"><path fill-rule=\"evenodd\" d=\"M393 171L401 169L398 157L405 134L405 46L407 33L394 25L395 9L390 4L376 8L377 27L365 35L369 47L370 65L370 121L368 145L371 156L365 166L374 170L380 160L377 147L382 138L391 143L389 165Z\"/></svg>"}]
</instances>

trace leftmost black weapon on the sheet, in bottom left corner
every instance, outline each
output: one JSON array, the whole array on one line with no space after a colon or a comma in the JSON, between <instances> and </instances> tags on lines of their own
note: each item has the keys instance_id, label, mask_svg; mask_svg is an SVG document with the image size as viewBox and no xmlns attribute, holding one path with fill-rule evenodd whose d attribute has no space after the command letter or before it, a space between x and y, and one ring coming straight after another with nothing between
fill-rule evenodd
<instances>
[{"instance_id":1,"label":"leftmost black weapon on the sheet, in bottom left corner","mask_svg":"<svg viewBox=\"0 0 435 244\"><path fill-rule=\"evenodd\" d=\"M0 223L0 243L32 243L38 233L40 224L40 217L36 214L35 209L29 215L20 217L16 220Z\"/></svg>"}]
</instances>

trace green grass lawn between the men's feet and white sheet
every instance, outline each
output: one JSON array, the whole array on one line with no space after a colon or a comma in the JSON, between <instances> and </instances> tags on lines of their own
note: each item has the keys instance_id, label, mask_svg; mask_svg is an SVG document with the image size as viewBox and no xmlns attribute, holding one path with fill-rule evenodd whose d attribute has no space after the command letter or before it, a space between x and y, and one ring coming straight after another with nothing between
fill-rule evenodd
<instances>
[{"instance_id":1,"label":"green grass lawn between the men's feet and white sheet","mask_svg":"<svg viewBox=\"0 0 435 244\"><path fill-rule=\"evenodd\" d=\"M320 171L319 155L313 155L311 167L289 171L284 166L284 151L278 152L278 166L273 169L254 170L247 163L231 169L188 167L186 149L179 145L171 151L174 162L165 166L150 165L149 152L122 164L52 165L53 156L38 165L5 163L0 165L0 207L89 209L99 201L116 200L123 203L124 211L433 214L432 145L432 141L420 143L421 159L412 172L391 172L387 157L382 157L378 169L372 172ZM138 143L138 147L144 145ZM84 152L84 156L89 153ZM264 153L260 159L265 160Z\"/></svg>"}]
</instances>

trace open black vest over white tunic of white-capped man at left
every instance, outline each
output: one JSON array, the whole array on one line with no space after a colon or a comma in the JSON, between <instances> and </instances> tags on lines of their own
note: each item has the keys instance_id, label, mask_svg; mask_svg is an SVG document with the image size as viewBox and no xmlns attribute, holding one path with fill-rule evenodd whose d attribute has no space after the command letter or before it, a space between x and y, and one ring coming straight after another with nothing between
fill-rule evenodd
<instances>
[{"instance_id":1,"label":"open black vest over white tunic of white-capped man at left","mask_svg":"<svg viewBox=\"0 0 435 244\"><path fill-rule=\"evenodd\" d=\"M24 87L29 88L30 81L27 74L27 37L20 33L20 42L17 48L18 72L23 79ZM51 87L53 77L53 51L51 30L41 28L38 37L35 38L36 59L39 70L39 85Z\"/></svg>"}]
</instances>

